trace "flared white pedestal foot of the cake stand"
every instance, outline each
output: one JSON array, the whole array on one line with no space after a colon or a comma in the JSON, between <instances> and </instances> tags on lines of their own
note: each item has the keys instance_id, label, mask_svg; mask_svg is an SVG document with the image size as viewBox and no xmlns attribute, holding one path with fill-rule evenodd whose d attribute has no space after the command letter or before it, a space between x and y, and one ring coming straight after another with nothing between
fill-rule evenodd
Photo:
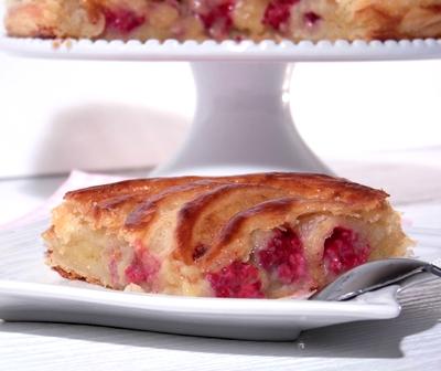
<instances>
[{"instance_id":1,"label":"flared white pedestal foot of the cake stand","mask_svg":"<svg viewBox=\"0 0 441 371\"><path fill-rule=\"evenodd\" d=\"M260 171L330 173L291 117L292 64L195 62L197 107L178 155L154 176Z\"/></svg>"}]
</instances>

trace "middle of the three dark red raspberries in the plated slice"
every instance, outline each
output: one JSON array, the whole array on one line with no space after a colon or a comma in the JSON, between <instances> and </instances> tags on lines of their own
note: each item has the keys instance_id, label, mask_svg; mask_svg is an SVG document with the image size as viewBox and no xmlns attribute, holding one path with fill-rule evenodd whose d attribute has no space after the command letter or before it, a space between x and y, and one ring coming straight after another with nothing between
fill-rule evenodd
<instances>
[{"instance_id":1,"label":"middle of the three dark red raspberries in the plated slice","mask_svg":"<svg viewBox=\"0 0 441 371\"><path fill-rule=\"evenodd\" d=\"M305 277L308 273L302 243L290 229L275 230L266 248L259 251L258 258L263 269L276 273L278 279L286 285Z\"/></svg>"}]
</instances>

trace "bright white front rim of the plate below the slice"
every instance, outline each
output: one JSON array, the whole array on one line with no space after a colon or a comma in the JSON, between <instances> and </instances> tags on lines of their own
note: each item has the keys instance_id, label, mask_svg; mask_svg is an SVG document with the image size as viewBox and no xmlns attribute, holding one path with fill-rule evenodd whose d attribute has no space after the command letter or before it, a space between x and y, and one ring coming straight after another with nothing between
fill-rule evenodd
<instances>
[{"instance_id":1,"label":"bright white front rim of the plate below the slice","mask_svg":"<svg viewBox=\"0 0 441 371\"><path fill-rule=\"evenodd\" d=\"M89 285L89 284L85 284ZM369 293L372 301L362 299L353 301L319 301L304 299L236 299L186 297L162 294L127 293L97 287L69 287L60 284L29 283L0 278L0 296L26 298L51 298L71 300L82 304L106 305L127 309L166 311L168 314L211 315L211 316L257 316L292 317L299 314L310 318L352 317L359 319L387 319L400 314L401 307L396 299L399 286L381 289L383 300L376 301L378 295ZM256 305L258 304L258 305ZM1 306L1 305L0 305Z\"/></svg>"}]
</instances>

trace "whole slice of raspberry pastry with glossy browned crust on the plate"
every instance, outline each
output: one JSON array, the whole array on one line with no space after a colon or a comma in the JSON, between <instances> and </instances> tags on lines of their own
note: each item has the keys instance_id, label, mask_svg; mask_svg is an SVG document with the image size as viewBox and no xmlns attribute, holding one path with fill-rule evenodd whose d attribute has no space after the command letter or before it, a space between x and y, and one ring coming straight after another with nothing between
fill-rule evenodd
<instances>
[{"instance_id":1,"label":"whole slice of raspberry pastry with glossy browned crust on the plate","mask_svg":"<svg viewBox=\"0 0 441 371\"><path fill-rule=\"evenodd\" d=\"M68 192L44 240L62 276L116 289L304 295L406 253L387 197L306 173L130 180Z\"/></svg>"}]
</instances>

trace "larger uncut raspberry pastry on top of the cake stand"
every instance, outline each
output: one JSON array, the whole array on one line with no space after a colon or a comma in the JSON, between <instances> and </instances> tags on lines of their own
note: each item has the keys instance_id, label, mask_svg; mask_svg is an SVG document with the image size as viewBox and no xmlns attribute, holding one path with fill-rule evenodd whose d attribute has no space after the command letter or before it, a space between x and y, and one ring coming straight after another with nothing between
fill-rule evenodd
<instances>
[{"instance_id":1,"label":"larger uncut raspberry pastry on top of the cake stand","mask_svg":"<svg viewBox=\"0 0 441 371\"><path fill-rule=\"evenodd\" d=\"M8 33L33 38L386 40L441 36L441 0L15 0Z\"/></svg>"}]
</instances>

